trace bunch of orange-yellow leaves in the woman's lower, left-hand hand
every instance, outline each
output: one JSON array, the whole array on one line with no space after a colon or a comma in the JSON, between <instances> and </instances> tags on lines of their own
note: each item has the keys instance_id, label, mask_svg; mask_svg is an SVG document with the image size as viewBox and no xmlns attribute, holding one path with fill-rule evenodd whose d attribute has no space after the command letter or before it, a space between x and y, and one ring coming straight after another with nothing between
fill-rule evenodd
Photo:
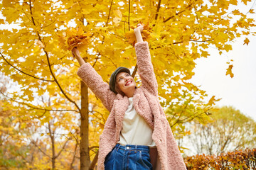
<instances>
[{"instance_id":1,"label":"bunch of orange-yellow leaves in the woman's lower, left-hand hand","mask_svg":"<svg viewBox=\"0 0 256 170\"><path fill-rule=\"evenodd\" d=\"M60 47L63 50L72 50L77 47L78 50L83 50L90 43L91 33L85 33L82 28L70 29L63 32L63 36L60 36Z\"/></svg>"}]
</instances>

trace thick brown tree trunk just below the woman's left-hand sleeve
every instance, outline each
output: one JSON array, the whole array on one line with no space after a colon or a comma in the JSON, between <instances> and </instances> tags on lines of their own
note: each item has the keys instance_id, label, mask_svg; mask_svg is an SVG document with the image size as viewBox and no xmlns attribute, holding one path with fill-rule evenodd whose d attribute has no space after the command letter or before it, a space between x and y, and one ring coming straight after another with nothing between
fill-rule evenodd
<instances>
[{"instance_id":1,"label":"thick brown tree trunk just below the woman's left-hand sleeve","mask_svg":"<svg viewBox=\"0 0 256 170\"><path fill-rule=\"evenodd\" d=\"M90 166L88 113L88 88L81 81L80 170L88 170Z\"/></svg>"}]
</instances>

